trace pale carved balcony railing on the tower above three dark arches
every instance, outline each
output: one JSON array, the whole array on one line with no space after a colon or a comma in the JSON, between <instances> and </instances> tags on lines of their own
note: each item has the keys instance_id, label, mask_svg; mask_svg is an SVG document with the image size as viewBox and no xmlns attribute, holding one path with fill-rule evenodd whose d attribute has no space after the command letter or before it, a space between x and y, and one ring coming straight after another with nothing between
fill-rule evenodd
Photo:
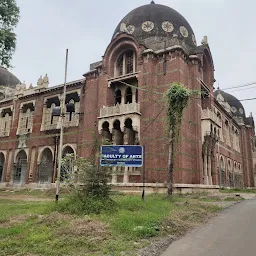
<instances>
[{"instance_id":1,"label":"pale carved balcony railing on the tower above three dark arches","mask_svg":"<svg viewBox=\"0 0 256 256\"><path fill-rule=\"evenodd\" d=\"M119 116L125 114L137 113L140 115L140 104L139 103L130 103L130 104L117 104L112 107L102 107L100 109L99 118L110 117L110 116Z\"/></svg>"}]
</instances>

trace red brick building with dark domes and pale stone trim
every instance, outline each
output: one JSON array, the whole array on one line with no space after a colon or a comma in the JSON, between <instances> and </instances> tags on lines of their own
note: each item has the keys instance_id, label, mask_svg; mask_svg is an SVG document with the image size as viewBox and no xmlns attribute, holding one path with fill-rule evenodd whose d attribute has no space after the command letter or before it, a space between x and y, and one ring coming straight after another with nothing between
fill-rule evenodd
<instances>
[{"instance_id":1,"label":"red brick building with dark domes and pale stone trim","mask_svg":"<svg viewBox=\"0 0 256 256\"><path fill-rule=\"evenodd\" d=\"M174 82L204 92L184 111L175 147L176 187L254 187L254 121L242 104L214 92L214 64L205 37L198 45L185 18L155 4L138 7L118 24L101 61L84 79L68 83L63 154L90 157L94 136L114 145L145 146L146 185L165 187L169 145L164 93ZM51 184L56 177L58 117L63 85L18 84L0 70L0 178L2 186ZM254 163L254 166L253 166ZM142 170L118 167L112 183L135 188Z\"/></svg>"}]
</instances>

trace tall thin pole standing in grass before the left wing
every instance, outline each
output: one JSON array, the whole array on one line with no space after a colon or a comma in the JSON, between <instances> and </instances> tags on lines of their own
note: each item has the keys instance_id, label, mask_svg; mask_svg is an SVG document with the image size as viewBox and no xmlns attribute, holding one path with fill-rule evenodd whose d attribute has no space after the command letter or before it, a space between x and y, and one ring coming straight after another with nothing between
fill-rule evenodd
<instances>
[{"instance_id":1,"label":"tall thin pole standing in grass before the left wing","mask_svg":"<svg viewBox=\"0 0 256 256\"><path fill-rule=\"evenodd\" d=\"M65 64L65 78L63 94L60 101L60 144L59 144L59 156L58 156L58 170L57 170L57 180L56 180L56 202L59 200L59 190L60 190L60 171L61 171L61 159L62 159L62 147L63 147L63 131L64 131L64 117L65 117L65 100L66 100L66 84L67 84L67 69L68 69L68 49L66 49L66 64Z\"/></svg>"}]
</instances>

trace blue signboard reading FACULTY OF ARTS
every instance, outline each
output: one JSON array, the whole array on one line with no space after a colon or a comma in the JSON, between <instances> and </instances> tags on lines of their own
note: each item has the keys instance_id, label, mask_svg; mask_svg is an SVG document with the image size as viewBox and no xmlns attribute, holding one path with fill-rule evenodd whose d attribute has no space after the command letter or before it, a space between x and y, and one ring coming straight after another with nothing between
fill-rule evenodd
<instances>
[{"instance_id":1,"label":"blue signboard reading FACULTY OF ARTS","mask_svg":"<svg viewBox=\"0 0 256 256\"><path fill-rule=\"evenodd\" d=\"M102 146L101 166L141 167L143 165L142 146Z\"/></svg>"}]
</instances>

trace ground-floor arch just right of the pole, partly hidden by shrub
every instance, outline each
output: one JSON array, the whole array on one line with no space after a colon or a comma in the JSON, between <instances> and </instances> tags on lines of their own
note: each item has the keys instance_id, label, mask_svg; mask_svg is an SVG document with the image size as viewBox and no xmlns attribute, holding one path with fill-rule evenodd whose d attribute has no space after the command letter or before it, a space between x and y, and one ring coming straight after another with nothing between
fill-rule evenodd
<instances>
[{"instance_id":1,"label":"ground-floor arch just right of the pole, partly hidden by shrub","mask_svg":"<svg viewBox=\"0 0 256 256\"><path fill-rule=\"evenodd\" d=\"M65 158L65 163L61 166L60 182L64 182L65 180L69 179L69 174L73 171L75 157L73 148L66 146L63 149L62 157Z\"/></svg>"}]
</instances>

